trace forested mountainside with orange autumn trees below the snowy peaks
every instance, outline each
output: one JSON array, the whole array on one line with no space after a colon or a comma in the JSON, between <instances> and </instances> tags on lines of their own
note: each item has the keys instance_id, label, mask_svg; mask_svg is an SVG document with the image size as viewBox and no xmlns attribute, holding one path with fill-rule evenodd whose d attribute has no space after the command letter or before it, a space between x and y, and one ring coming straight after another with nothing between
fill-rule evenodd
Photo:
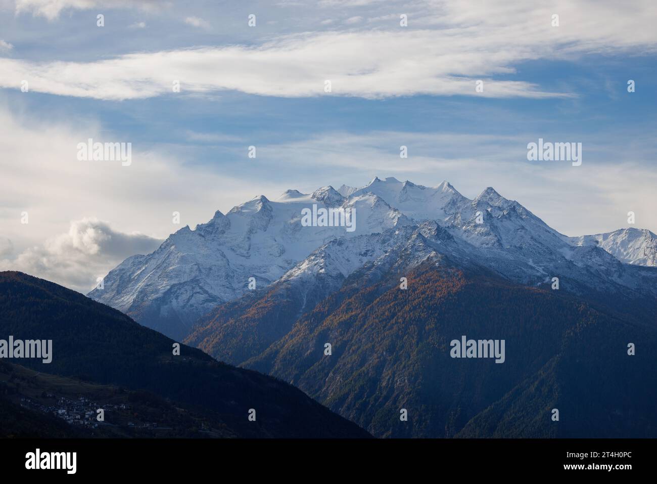
<instances>
[{"instance_id":1,"label":"forested mountainside with orange autumn trees below the snowy peaks","mask_svg":"<svg viewBox=\"0 0 657 484\"><path fill-rule=\"evenodd\" d=\"M657 436L657 326L643 316L652 302L612 312L611 302L435 265L406 274L401 290L400 275L346 283L267 350L231 362L290 381L381 437ZM250 304L277 314L271 299ZM214 318L246 324L238 307ZM505 362L451 358L462 335L505 340ZM212 354L234 355L223 343Z\"/></svg>"}]
</instances>

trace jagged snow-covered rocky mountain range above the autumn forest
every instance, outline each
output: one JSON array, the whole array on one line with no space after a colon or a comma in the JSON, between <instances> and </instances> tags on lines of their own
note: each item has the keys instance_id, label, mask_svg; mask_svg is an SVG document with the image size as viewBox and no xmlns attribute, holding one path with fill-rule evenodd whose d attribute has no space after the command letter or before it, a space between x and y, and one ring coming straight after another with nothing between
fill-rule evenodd
<instances>
[{"instance_id":1,"label":"jagged snow-covered rocky mountain range above the autumn forest","mask_svg":"<svg viewBox=\"0 0 657 484\"><path fill-rule=\"evenodd\" d=\"M313 205L353 210L355 230L302 224ZM334 286L325 293L363 266L390 266L391 256L408 267L447 258L528 285L558 277L574 293L657 295L657 269L645 267L657 266L657 237L648 230L566 237L491 187L470 200L447 182L423 187L374 178L359 189L288 190L276 201L260 196L225 215L217 211L153 253L127 258L89 297L182 338L217 304L249 291L250 278L256 289L304 281L299 291L321 279Z\"/></svg>"}]
</instances>

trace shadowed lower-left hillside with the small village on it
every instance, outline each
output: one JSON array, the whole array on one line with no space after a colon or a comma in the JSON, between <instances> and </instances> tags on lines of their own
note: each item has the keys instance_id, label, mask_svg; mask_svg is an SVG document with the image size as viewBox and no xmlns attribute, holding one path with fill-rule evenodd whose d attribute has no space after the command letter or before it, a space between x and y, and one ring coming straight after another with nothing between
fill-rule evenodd
<instances>
[{"instance_id":1,"label":"shadowed lower-left hillside with the small village on it","mask_svg":"<svg viewBox=\"0 0 657 484\"><path fill-rule=\"evenodd\" d=\"M214 412L0 360L0 437L238 437ZM97 419L97 410L104 412Z\"/></svg>"}]
</instances>

